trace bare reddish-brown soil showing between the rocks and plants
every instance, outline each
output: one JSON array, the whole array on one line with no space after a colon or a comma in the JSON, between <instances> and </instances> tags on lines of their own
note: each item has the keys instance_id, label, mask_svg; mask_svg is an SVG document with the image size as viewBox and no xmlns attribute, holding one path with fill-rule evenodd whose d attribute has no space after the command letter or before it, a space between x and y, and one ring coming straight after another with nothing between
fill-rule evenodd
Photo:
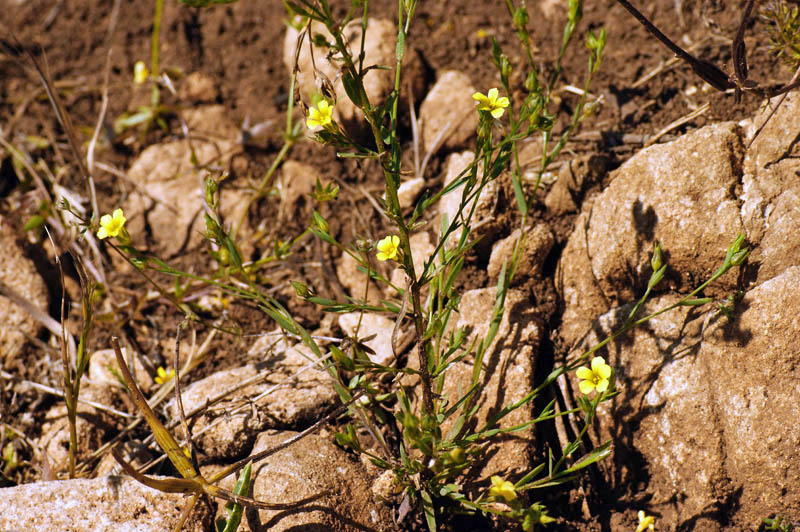
<instances>
[{"instance_id":1,"label":"bare reddish-brown soil showing between the rocks and plants","mask_svg":"<svg viewBox=\"0 0 800 532\"><path fill-rule=\"evenodd\" d=\"M341 1L334 3L342 12L349 4ZM744 3L646 0L639 2L639 7L684 48L691 47L695 55L730 71L731 40ZM63 131L23 50L48 66L66 109L82 134L79 139L81 143L88 141L101 111L104 65L106 54L111 50L106 115L109 127L106 128L102 148L97 155L98 160L105 164L117 169L128 168L148 145L179 135L180 131L176 121L170 123L170 132L156 130L144 137L135 134L115 135L110 129L114 118L146 103L149 98L147 90L131 83L131 73L136 61L149 62L153 11L151 2L122 2L117 26L109 39L112 4L94 0L0 0L3 13L0 42L9 49L7 55L0 54L0 133L14 142L26 136L48 139L46 148L34 149L32 153L35 158L41 158L51 167L60 169L57 178L60 185L67 189L85 190L85 184L81 182L79 172L75 171L76 164ZM490 60L491 38L496 38L504 47L512 63L517 63L515 59L519 57L516 37L502 4L497 0L420 2L408 42L422 57L429 82L435 79L436 72L455 69L466 73L475 87L498 84L499 78ZM530 26L537 45L536 59L545 66L552 65L557 54L565 19L562 4L565 2L529 2ZM369 3L369 8L373 16L396 18L396 3L393 0L375 0ZM288 73L282 58L285 18L285 9L277 0L239 0L235 4L208 10L186 7L174 1L165 4L161 64L165 68L179 69L184 74L201 72L210 76L217 91L215 103L223 105L237 124L247 121L267 126L266 133L247 146L230 168L231 178L243 187L261 178L282 145L281 128L285 120L288 91ZM586 2L583 20L578 28L579 40L584 38L587 30L601 27L608 32L608 40L602 66L591 92L602 95L603 104L582 125L574 142L565 150L564 158L600 156L604 170L600 174L605 175L605 171L618 167L641 148L646 136L661 132L705 102L710 103L708 111L669 129L664 138L714 122L738 121L751 116L758 109L760 102L754 96L745 95L740 102L735 102L733 94L705 90L702 80L687 65L670 63L672 54L613 0ZM775 83L791 77L791 72L767 52L762 22L754 20L751 23L746 42L751 79ZM659 69L662 65L664 67ZM570 48L565 58L563 85L582 86L585 72L584 49L579 46ZM521 81L518 77L514 78L517 87L521 86ZM562 93L562 98L556 129L563 128L567 123L576 101L575 96L567 92ZM165 96L164 103L177 107L184 105L179 97L169 95ZM410 139L406 139L406 142L410 144ZM358 192L359 187L370 191L382 189L382 177L375 171L376 167L369 163L357 164L352 160L337 159L333 150L312 142L296 145L290 158L310 163L319 169L321 175L335 176L338 182L345 185L342 186L339 201L349 207L343 210L340 218L337 218L335 211L331 213L331 224L340 235L375 237L382 234L384 220ZM0 214L21 235L23 225L39 205L31 199L34 196L30 185L17 180L10 159L8 153L0 149ZM430 168L435 173L441 170L442 165L443 160L435 159ZM125 197L128 185L108 172L100 172L96 181L100 210L109 212ZM590 195L601 185L600 182L589 183L584 196ZM513 198L513 195L507 194L506 197ZM579 201L582 199L578 198ZM511 204L506 207L513 209ZM351 212L351 208L363 213L363 217L356 219L349 216L347 213ZM269 219L276 214L277 207L267 198L250 210L249 220L256 226L258 220ZM547 212L543 204L539 204L534 217L546 221L555 231L556 244L545 264L545 273L552 274L572 230L574 215L556 218ZM513 229L514 214L507 213L503 220L507 235ZM285 219L285 223L276 224L269 237L254 247L254 256L260 250L274 245L276 240L286 240L298 234L307 227L308 222L307 210L298 209ZM41 237L32 235L27 241L27 250L37 258L37 267L48 283L51 314L57 317L61 299L58 271L53 266L52 256L45 249L46 246L39 245L41 242ZM305 326L314 326L322 319L322 314L298 304L292 298L293 292L287 282L292 274L301 278L312 275L310 270L303 269L302 264L315 256L314 246L309 246L293 269L283 272L283 277L269 280L278 298L289 305L292 311L299 313ZM203 249L185 249L170 260L178 267L191 267L198 273L210 268L210 259ZM485 266L480 262L470 264L463 281L464 287L485 286ZM68 297L73 304L77 301L76 282L74 272L68 272ZM560 310L552 283L552 275L545 275L545 281L524 287L530 291L532 301L539 305L542 321L550 328L550 332L558 326ZM136 300L137 293L147 290L146 283L129 269L111 272L109 284L122 287L120 290L128 294L131 301ZM153 353L153 363L159 365L163 362L159 357L166 359L171 355L170 344L164 342L163 337L175 330L182 316L168 302L158 299L137 301L138 304L129 306L128 310L118 309L122 318L101 322L90 339L91 347L107 348L110 336L122 333L141 352ZM77 327L80 319L78 306L70 312L69 318L70 324ZM255 334L273 327L262 313L244 305L233 305L228 319L244 334ZM548 346L551 358L563 353L564 347L554 334L551 334ZM37 355L35 347L27 349L23 357L7 362L4 370L21 378L60 386L60 367L47 362L53 357L45 360ZM204 364L197 378L241 362L239 348L229 337L219 337L212 349L215 351L213 359ZM541 371L546 375L549 369L542 368ZM9 416L9 423L16 422L26 427L28 436L36 437L35 420L53 401L52 398L34 395L19 398L4 414ZM29 477L19 480L36 479ZM603 493L592 491L591 482L581 484L568 496L554 499L554 503L580 508L580 501L586 497L592 507L624 507L624 501L610 501ZM631 486L627 496L635 498L636 489L636 486ZM580 521L581 513L576 511L571 517ZM598 523L580 526L585 530L602 528Z\"/></svg>"}]
</instances>

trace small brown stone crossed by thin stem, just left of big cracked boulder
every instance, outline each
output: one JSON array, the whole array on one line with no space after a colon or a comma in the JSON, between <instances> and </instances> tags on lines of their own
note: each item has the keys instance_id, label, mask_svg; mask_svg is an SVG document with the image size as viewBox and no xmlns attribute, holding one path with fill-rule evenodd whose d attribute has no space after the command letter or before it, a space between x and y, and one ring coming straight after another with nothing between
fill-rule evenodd
<instances>
[{"instance_id":1,"label":"small brown stone crossed by thin stem, just left of big cracked boulder","mask_svg":"<svg viewBox=\"0 0 800 532\"><path fill-rule=\"evenodd\" d=\"M492 248L489 266L486 268L489 279L492 281L497 282L504 262L511 263L519 234L520 230L516 229L508 237L497 241ZM546 224L537 224L531 228L525 237L524 248L521 251L519 267L514 282L520 283L525 279L541 277L542 265L554 243L553 232Z\"/></svg>"}]
</instances>

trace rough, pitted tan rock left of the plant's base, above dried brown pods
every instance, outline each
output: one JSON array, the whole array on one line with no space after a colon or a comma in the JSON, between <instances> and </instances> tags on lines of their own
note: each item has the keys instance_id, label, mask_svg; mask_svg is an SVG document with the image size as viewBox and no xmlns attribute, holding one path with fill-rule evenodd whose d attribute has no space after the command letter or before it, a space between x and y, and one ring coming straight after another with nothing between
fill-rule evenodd
<instances>
[{"instance_id":1,"label":"rough, pitted tan rock left of the plant's base, above dried brown pods","mask_svg":"<svg viewBox=\"0 0 800 532\"><path fill-rule=\"evenodd\" d=\"M263 361L214 373L188 386L181 396L188 416L230 390L191 423L204 460L240 458L258 433L273 427L302 428L322 417L336 400L329 375L308 367L314 356L302 345L289 345L281 336L263 336L253 344L250 356ZM253 384L241 387L258 376ZM171 412L178 419L174 400Z\"/></svg>"}]
</instances>

